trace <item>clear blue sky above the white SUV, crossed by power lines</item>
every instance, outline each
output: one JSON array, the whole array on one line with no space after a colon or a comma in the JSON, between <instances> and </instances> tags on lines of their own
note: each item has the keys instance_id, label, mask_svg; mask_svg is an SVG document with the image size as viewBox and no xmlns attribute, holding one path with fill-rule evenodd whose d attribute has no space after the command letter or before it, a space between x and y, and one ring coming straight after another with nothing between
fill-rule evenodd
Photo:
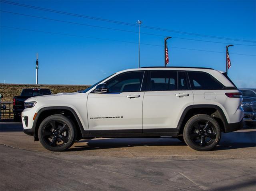
<instances>
[{"instance_id":1,"label":"clear blue sky above the white SUV, crossed by power lines","mask_svg":"<svg viewBox=\"0 0 256 191\"><path fill-rule=\"evenodd\" d=\"M53 10L71 12L182 32L200 33L232 39L256 41L256 1L14 1ZM87 25L138 32L138 27L67 16L42 10L0 4L9 12L46 17ZM67 33L102 39L0 28L0 83L35 83L36 53L39 53L40 84L90 85L120 71L138 67L138 33L120 32L31 18L0 12L1 26L54 33ZM256 87L256 43L187 35L141 28L141 32L172 36L168 40L169 66L212 67L225 70L225 53L178 49L202 49L225 52L230 47L232 63L228 74L238 87ZM210 43L192 41L190 38ZM124 43L113 39L130 41ZM141 34L141 43L163 46L164 37ZM141 44L140 64L163 66L164 48Z\"/></svg>"}]
</instances>

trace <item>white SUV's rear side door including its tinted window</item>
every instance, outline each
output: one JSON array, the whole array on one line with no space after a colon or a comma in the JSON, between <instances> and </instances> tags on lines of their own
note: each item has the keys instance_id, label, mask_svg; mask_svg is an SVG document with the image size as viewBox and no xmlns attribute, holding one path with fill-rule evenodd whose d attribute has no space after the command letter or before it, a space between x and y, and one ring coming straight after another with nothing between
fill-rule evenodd
<instances>
[{"instance_id":1,"label":"white SUV's rear side door including its tinted window","mask_svg":"<svg viewBox=\"0 0 256 191\"><path fill-rule=\"evenodd\" d=\"M194 104L186 71L150 71L143 100L143 133L170 132L182 112Z\"/></svg>"}]
</instances>

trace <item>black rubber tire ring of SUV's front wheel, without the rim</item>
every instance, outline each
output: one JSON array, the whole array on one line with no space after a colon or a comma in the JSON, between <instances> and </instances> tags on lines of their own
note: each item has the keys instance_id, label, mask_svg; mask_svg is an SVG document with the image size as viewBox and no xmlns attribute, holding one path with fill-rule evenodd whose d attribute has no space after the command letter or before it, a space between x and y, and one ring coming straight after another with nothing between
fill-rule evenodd
<instances>
[{"instance_id":1,"label":"black rubber tire ring of SUV's front wheel, without the rim","mask_svg":"<svg viewBox=\"0 0 256 191\"><path fill-rule=\"evenodd\" d=\"M67 124L68 128L69 128L69 132L70 132L70 138L68 140L68 142L66 144L64 144L63 146L60 147L52 147L49 146L43 137L43 129L46 126L46 124L48 124L48 122L53 121L53 120L58 120L58 121L62 121L64 123ZM74 123L72 122L72 120L68 119L67 117L63 116L63 115L51 115L48 116L47 118L45 118L39 128L38 128L38 138L40 143L42 144L42 146L44 146L44 148L46 148L47 150L50 151L64 151L67 150L68 148L70 148L70 146L72 146L76 140L76 128Z\"/></svg>"}]
</instances>

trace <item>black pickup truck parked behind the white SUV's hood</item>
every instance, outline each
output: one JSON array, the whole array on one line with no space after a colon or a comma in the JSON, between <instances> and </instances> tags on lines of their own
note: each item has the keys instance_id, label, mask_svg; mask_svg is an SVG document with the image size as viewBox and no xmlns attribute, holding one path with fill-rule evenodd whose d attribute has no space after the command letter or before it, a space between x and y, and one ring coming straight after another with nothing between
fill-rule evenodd
<instances>
[{"instance_id":1,"label":"black pickup truck parked behind the white SUV's hood","mask_svg":"<svg viewBox=\"0 0 256 191\"><path fill-rule=\"evenodd\" d=\"M30 97L34 96L42 96L42 95L50 95L52 92L49 89L23 89L20 96L13 97L13 114L14 121L21 121L21 112L24 110L24 101Z\"/></svg>"}]
</instances>

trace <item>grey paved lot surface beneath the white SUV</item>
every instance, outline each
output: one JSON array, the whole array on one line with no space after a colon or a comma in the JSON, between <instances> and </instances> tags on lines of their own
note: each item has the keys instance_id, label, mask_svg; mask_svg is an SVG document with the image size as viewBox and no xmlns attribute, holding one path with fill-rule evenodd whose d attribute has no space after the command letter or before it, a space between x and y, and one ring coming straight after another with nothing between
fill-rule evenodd
<instances>
[{"instance_id":1,"label":"grey paved lot surface beneath the white SUV","mask_svg":"<svg viewBox=\"0 0 256 191\"><path fill-rule=\"evenodd\" d=\"M256 129L222 134L208 152L174 138L81 140L50 152L0 122L0 190L256 190Z\"/></svg>"}]
</instances>

